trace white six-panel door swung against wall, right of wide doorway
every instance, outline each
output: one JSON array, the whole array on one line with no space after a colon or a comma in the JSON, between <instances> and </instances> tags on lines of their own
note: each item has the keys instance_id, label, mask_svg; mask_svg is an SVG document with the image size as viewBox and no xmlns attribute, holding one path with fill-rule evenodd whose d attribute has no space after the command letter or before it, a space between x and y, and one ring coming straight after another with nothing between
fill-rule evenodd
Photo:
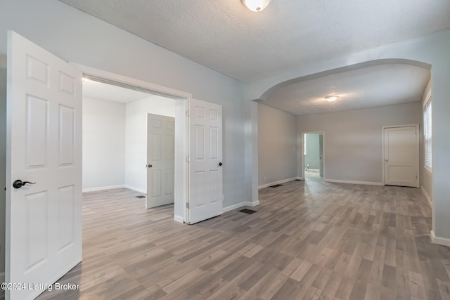
<instances>
[{"instance_id":1,"label":"white six-panel door swung against wall, right of wide doorway","mask_svg":"<svg viewBox=\"0 0 450 300\"><path fill-rule=\"evenodd\" d=\"M221 105L189 100L188 200L186 223L222 214Z\"/></svg>"}]
</instances>

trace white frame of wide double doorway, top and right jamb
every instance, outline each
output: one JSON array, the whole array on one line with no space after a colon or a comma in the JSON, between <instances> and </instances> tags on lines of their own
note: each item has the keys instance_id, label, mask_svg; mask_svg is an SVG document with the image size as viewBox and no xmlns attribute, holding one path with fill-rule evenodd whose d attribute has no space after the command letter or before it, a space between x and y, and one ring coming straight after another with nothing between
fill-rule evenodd
<instances>
[{"instance_id":1,"label":"white frame of wide double doorway, top and right jamb","mask_svg":"<svg viewBox=\"0 0 450 300\"><path fill-rule=\"evenodd\" d=\"M192 98L191 93L169 89L165 86L152 84L148 81L125 77L120 74L110 73L98 70L93 67L75 65L83 72L83 76L92 80L100 81L106 84L114 84L128 89L153 93L167 98L175 99L175 204L174 220L183 223L186 220L186 201L188 197L188 166L186 157L188 157L187 148L187 111L188 100Z\"/></svg>"}]
</instances>

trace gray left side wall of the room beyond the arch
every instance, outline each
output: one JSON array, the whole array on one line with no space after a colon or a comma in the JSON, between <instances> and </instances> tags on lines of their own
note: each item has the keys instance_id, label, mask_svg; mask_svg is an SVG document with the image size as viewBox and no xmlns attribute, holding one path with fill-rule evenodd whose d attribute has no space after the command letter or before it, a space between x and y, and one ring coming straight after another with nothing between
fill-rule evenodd
<instances>
[{"instance_id":1,"label":"gray left side wall of the room beyond the arch","mask_svg":"<svg viewBox=\"0 0 450 300\"><path fill-rule=\"evenodd\" d=\"M258 185L297 176L295 116L258 105ZM265 178L265 180L264 180Z\"/></svg>"}]
</instances>

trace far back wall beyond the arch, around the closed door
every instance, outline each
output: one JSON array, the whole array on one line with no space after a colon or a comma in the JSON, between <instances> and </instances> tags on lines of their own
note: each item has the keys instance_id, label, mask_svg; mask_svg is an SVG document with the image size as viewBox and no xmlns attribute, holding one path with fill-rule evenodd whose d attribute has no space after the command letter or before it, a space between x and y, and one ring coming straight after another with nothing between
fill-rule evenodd
<instances>
[{"instance_id":1,"label":"far back wall beyond the arch, around the closed door","mask_svg":"<svg viewBox=\"0 0 450 300\"><path fill-rule=\"evenodd\" d=\"M324 131L323 178L383 181L382 128L421 124L420 102L297 117L297 132Z\"/></svg>"}]
</instances>

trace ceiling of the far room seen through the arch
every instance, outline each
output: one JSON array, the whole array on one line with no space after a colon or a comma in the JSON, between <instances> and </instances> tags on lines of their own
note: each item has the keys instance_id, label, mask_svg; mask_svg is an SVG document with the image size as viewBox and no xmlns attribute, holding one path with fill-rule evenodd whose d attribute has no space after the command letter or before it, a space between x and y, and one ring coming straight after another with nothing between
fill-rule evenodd
<instances>
[{"instance_id":1,"label":"ceiling of the far room seen through the arch","mask_svg":"<svg viewBox=\"0 0 450 300\"><path fill-rule=\"evenodd\" d=\"M262 102L293 115L357 110L420 100L430 70L413 65L375 65L289 84ZM329 103L326 96L339 96Z\"/></svg>"}]
</instances>

